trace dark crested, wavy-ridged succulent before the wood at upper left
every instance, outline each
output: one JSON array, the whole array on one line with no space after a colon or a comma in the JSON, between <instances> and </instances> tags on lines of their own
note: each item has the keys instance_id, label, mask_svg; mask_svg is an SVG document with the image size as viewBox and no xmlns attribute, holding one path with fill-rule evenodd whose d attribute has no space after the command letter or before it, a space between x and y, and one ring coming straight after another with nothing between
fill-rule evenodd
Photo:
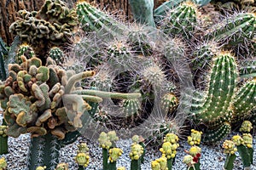
<instances>
[{"instance_id":1,"label":"dark crested, wavy-ridged succulent before the wood at upper left","mask_svg":"<svg viewBox=\"0 0 256 170\"><path fill-rule=\"evenodd\" d=\"M19 20L9 27L9 31L20 37L21 42L32 44L35 53L44 57L49 45L67 42L79 20L76 11L67 8L60 0L47 0L39 11L18 12Z\"/></svg>"}]
</instances>

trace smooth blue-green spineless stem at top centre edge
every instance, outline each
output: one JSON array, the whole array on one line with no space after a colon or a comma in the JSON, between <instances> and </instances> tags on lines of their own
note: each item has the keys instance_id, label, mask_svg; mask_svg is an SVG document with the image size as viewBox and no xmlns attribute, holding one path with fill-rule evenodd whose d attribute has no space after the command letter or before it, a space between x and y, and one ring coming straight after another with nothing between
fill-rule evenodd
<instances>
[{"instance_id":1,"label":"smooth blue-green spineless stem at top centre edge","mask_svg":"<svg viewBox=\"0 0 256 170\"><path fill-rule=\"evenodd\" d=\"M153 8L154 0L129 0L133 18L137 23L154 26Z\"/></svg>"}]
</instances>

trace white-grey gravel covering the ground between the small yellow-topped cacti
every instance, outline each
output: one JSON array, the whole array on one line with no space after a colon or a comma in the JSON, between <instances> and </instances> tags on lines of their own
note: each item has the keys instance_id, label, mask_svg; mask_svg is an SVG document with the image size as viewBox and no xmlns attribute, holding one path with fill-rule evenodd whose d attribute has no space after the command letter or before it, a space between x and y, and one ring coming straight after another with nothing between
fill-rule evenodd
<instances>
[{"instance_id":1,"label":"white-grey gravel covering the ground between the small yellow-topped cacti","mask_svg":"<svg viewBox=\"0 0 256 170\"><path fill-rule=\"evenodd\" d=\"M0 120L2 120L0 114ZM2 122L0 121L0 124ZM230 139L232 133L227 137ZM224 141L224 140L223 140ZM214 146L208 146L201 144L201 170L221 170L224 166L225 155L223 153L223 149L221 148L221 141ZM77 164L73 161L73 157L76 155L77 144L80 142L86 142L88 147L90 148L90 165L86 169L88 170L101 170L102 169L102 149L98 147L97 142L90 142L90 140L79 137L77 141L73 144L68 144L64 148L61 149L60 162L67 162L71 170L78 169ZM6 157L8 161L8 169L9 170L25 170L26 169L26 158L28 155L28 144L30 143L30 135L22 134L19 138L11 138L9 137L9 154L3 155ZM185 156L184 150L189 150L190 146L186 141L179 142L180 147L177 149L177 157L175 160L175 164L172 167L173 170L185 170L186 166L183 164L183 156ZM130 146L131 139L120 139L117 142L117 146L124 150L123 155L119 158L117 162L118 167L126 167L126 169L130 169ZM253 166L252 170L256 170L256 137L253 137ZM2 156L0 156L2 157ZM145 162L142 165L143 170L149 170L150 162L154 159L160 157L159 150L146 150ZM234 170L242 169L241 159L239 156L236 157Z\"/></svg>"}]
</instances>

